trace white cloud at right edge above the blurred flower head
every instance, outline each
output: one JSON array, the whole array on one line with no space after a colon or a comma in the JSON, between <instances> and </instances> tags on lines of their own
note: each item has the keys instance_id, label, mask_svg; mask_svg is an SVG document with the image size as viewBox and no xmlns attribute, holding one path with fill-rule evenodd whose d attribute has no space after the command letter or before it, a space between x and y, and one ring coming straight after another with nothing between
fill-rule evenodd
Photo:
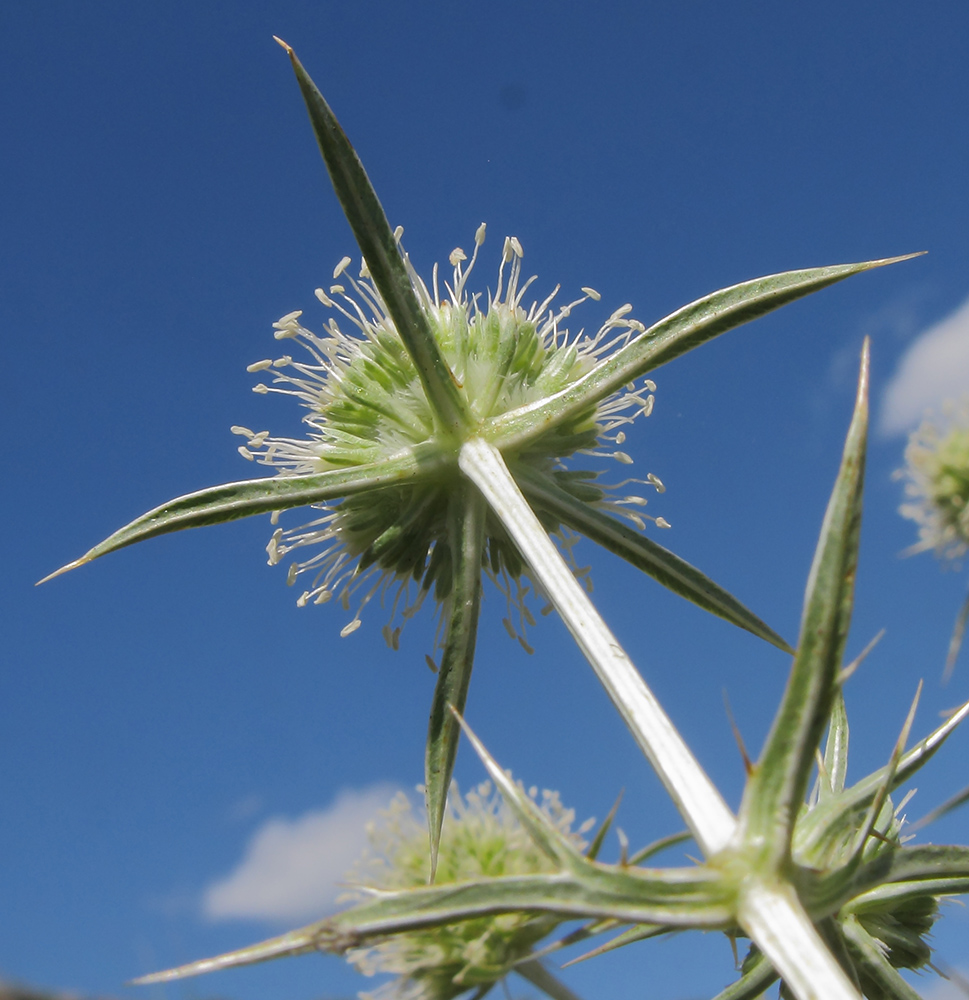
<instances>
[{"instance_id":1,"label":"white cloud at right edge above the blurred flower head","mask_svg":"<svg viewBox=\"0 0 969 1000\"><path fill-rule=\"evenodd\" d=\"M918 336L882 394L883 434L913 428L929 407L969 392L969 299Z\"/></svg>"}]
</instances>

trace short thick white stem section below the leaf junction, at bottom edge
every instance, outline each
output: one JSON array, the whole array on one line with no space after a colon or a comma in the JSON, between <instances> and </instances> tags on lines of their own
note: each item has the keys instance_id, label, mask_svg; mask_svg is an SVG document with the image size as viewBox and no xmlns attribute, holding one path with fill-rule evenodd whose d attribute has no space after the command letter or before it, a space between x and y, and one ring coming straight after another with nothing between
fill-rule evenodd
<instances>
[{"instance_id":1,"label":"short thick white stem section below the leaf junction, at bottom edge","mask_svg":"<svg viewBox=\"0 0 969 1000\"><path fill-rule=\"evenodd\" d=\"M738 919L798 1000L862 1000L792 886L752 881L741 894Z\"/></svg>"}]
</instances>

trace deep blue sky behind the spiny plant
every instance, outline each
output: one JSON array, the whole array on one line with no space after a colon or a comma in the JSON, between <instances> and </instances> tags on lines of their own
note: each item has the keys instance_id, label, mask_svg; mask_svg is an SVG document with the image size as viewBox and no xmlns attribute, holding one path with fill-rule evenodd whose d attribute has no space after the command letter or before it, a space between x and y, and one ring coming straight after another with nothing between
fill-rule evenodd
<instances>
[{"instance_id":1,"label":"deep blue sky behind the spiny plant","mask_svg":"<svg viewBox=\"0 0 969 1000\"><path fill-rule=\"evenodd\" d=\"M480 287L515 235L536 291L601 293L576 325L625 302L648 323L760 274L928 250L661 369L627 450L667 485L649 508L673 526L659 540L793 638L870 334L879 429L849 654L888 631L848 690L853 773L887 758L919 678L917 732L969 696L969 657L939 685L965 576L899 558L915 529L891 478L922 408L969 388L969 9L36 0L5 5L0 29L0 406L16 445L2 481L0 977L146 995L122 983L284 923L282 904L272 918L243 892L273 831L287 849L342 843L353 816L421 776L432 624L412 622L395 655L379 613L340 639L337 609L297 609L284 570L266 567L267 519L33 587L149 507L250 475L231 425L298 430L297 408L254 396L245 366L281 315L323 322L313 289L356 251L272 34L326 94L419 270L485 220ZM588 543L579 553L736 802L722 692L758 747L786 659ZM564 629L540 622L529 657L503 613L491 593L468 712L492 752L580 818L625 788L633 843L678 829ZM967 748L969 733L950 741L910 815L969 782ZM457 776L483 772L464 752ZM932 832L967 836L965 815ZM966 964L958 908L936 942ZM684 936L569 982L592 997L608 977L624 998L645 979L661 1000L730 974L724 941ZM310 957L147 994L366 985Z\"/></svg>"}]
</instances>

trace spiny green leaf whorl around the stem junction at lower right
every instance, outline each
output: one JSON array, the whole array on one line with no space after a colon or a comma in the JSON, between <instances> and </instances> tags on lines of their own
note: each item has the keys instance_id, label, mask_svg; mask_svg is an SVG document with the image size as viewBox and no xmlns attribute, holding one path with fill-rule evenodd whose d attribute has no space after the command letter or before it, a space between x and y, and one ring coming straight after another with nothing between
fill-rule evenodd
<instances>
[{"instance_id":1,"label":"spiny green leaf whorl around the stem junction at lower right","mask_svg":"<svg viewBox=\"0 0 969 1000\"><path fill-rule=\"evenodd\" d=\"M382 890L283 937L143 981L315 950L346 954L398 935L406 941L418 930L508 914L551 922L585 918L586 936L628 925L610 948L688 928L749 937L753 946L741 978L720 1000L753 1000L778 978L785 996L801 1000L851 1000L861 993L870 1000L912 1000L916 994L898 970L928 963L938 899L969 891L969 848L906 844L904 802L896 809L890 795L969 714L969 703L906 752L913 704L888 764L846 785L842 688L853 666L841 664L861 529L867 385L866 343L855 413L808 578L800 642L764 749L750 767L740 813L734 818L725 806L714 808L715 790L702 793L706 804L697 811L677 799L705 861L643 868L625 852L615 865L597 862L593 851L582 854L469 732L489 777L552 864L551 873ZM697 779L709 780L698 764L691 767ZM693 779L684 772L682 780ZM672 784L675 797L678 783ZM713 823L719 832L711 835ZM453 982L453 974L445 981ZM543 986L552 996L559 995L556 988Z\"/></svg>"}]
</instances>

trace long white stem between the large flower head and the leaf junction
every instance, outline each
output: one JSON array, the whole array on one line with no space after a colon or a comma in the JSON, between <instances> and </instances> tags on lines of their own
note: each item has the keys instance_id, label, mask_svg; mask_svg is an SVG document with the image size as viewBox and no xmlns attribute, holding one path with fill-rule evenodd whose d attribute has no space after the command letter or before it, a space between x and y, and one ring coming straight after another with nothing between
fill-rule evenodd
<instances>
[{"instance_id":1,"label":"long white stem between the large flower head and the leaf junction","mask_svg":"<svg viewBox=\"0 0 969 1000\"><path fill-rule=\"evenodd\" d=\"M459 465L514 539L703 852L726 847L737 825L733 813L572 575L498 449L480 438L467 441Z\"/></svg>"}]
</instances>

